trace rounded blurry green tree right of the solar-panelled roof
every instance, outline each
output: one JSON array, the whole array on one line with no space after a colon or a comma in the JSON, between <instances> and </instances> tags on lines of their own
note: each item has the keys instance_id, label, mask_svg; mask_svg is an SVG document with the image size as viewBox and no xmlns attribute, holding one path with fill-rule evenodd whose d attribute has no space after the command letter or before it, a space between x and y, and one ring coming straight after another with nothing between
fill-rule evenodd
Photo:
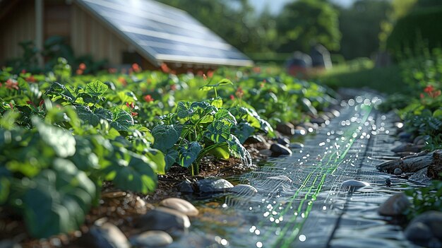
<instances>
[{"instance_id":1,"label":"rounded blurry green tree right of the solar-panelled roof","mask_svg":"<svg viewBox=\"0 0 442 248\"><path fill-rule=\"evenodd\" d=\"M299 0L287 4L276 18L278 52L309 52L320 43L330 50L340 47L338 12L327 1Z\"/></svg>"}]
</instances>

